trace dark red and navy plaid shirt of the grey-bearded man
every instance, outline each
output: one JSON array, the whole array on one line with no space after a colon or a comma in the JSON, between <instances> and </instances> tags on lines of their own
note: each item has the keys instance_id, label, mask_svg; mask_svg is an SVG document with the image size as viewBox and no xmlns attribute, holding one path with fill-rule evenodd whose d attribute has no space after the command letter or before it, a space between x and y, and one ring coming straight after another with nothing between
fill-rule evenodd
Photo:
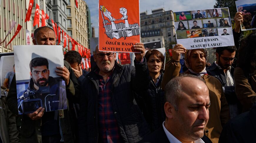
<instances>
[{"instance_id":1,"label":"dark red and navy plaid shirt of the grey-bearded man","mask_svg":"<svg viewBox=\"0 0 256 143\"><path fill-rule=\"evenodd\" d=\"M98 74L98 72L96 71ZM104 82L103 77L99 77L98 113L99 113L99 142L119 143L121 136L117 120L111 102L111 77Z\"/></svg>"}]
</instances>

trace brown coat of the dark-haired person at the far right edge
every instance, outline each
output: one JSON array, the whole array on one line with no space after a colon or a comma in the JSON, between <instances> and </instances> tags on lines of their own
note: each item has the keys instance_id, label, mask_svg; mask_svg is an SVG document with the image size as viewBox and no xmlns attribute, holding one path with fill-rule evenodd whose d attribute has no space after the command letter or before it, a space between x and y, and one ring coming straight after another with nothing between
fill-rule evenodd
<instances>
[{"instance_id":1,"label":"brown coat of the dark-haired person at the far right edge","mask_svg":"<svg viewBox=\"0 0 256 143\"><path fill-rule=\"evenodd\" d=\"M238 100L243 106L243 112L249 111L252 103L256 102L256 75L250 77L248 81L242 68L235 68L235 91Z\"/></svg>"}]
</instances>

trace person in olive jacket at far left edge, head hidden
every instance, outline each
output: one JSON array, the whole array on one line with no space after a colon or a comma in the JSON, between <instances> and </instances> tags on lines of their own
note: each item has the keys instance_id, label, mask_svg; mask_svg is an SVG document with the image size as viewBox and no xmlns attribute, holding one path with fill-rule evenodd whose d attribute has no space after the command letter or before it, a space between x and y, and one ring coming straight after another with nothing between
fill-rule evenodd
<instances>
[{"instance_id":1,"label":"person in olive jacket at far left edge, head hidden","mask_svg":"<svg viewBox=\"0 0 256 143\"><path fill-rule=\"evenodd\" d=\"M7 88L1 86L0 96L0 143L19 143L19 132L16 128L15 115L6 105Z\"/></svg>"}]
</instances>

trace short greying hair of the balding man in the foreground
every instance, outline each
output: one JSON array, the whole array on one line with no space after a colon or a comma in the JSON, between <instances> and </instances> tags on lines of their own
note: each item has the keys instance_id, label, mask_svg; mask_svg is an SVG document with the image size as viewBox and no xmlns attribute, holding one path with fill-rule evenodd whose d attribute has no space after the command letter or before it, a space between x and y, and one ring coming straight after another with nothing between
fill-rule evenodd
<instances>
[{"instance_id":1,"label":"short greying hair of the balding man in the foreground","mask_svg":"<svg viewBox=\"0 0 256 143\"><path fill-rule=\"evenodd\" d=\"M165 92L165 94L164 94L165 101L172 104L176 111L178 111L179 100L181 99L182 89L184 88L184 87L181 86L180 81L184 77L192 77L192 78L195 78L197 80L202 81L202 79L200 77L197 77L195 75L181 74L178 77L174 77L172 80L170 80L167 83L167 85L165 86L165 90L164 90L164 92Z\"/></svg>"}]
</instances>

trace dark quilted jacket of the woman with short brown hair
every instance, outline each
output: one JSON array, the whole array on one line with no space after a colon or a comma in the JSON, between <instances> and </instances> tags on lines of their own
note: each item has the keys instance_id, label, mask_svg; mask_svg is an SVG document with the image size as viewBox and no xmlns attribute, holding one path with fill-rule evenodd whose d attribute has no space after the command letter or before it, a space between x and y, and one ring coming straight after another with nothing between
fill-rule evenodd
<instances>
[{"instance_id":1,"label":"dark quilted jacket of the woman with short brown hair","mask_svg":"<svg viewBox=\"0 0 256 143\"><path fill-rule=\"evenodd\" d=\"M164 91L161 87L163 77L164 73L161 73L158 86L151 78L149 89L136 93L139 100L137 103L140 104L139 106L152 132L158 129L165 120Z\"/></svg>"}]
</instances>

